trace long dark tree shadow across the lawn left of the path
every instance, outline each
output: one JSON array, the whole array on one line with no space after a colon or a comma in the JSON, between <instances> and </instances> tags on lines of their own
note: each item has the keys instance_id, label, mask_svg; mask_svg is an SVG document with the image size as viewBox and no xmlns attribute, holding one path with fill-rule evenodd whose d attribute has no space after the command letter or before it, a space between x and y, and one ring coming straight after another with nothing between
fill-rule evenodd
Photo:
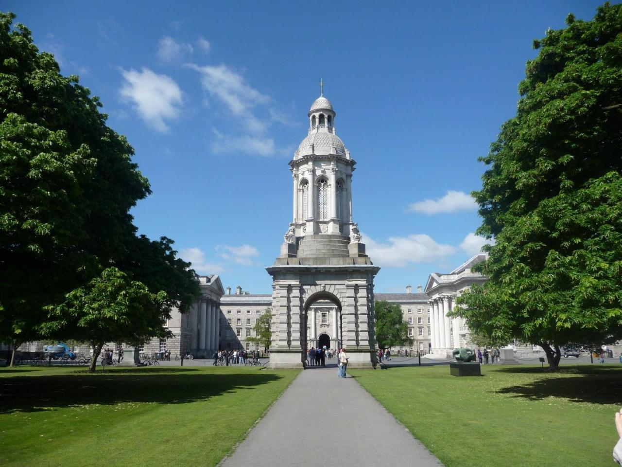
<instances>
[{"instance_id":1,"label":"long dark tree shadow across the lawn left of the path","mask_svg":"<svg viewBox=\"0 0 622 467\"><path fill-rule=\"evenodd\" d=\"M0 378L0 413L117 403L189 403L281 379L266 372L206 374L196 369L119 369Z\"/></svg>"}]
</instances>

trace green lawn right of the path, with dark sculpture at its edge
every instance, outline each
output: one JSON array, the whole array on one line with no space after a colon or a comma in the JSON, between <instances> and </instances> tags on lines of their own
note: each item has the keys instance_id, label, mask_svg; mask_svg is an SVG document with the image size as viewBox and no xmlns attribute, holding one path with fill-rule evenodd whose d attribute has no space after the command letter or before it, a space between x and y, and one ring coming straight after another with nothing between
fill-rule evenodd
<instances>
[{"instance_id":1,"label":"green lawn right of the path, with dark sculpture at its edge","mask_svg":"<svg viewBox=\"0 0 622 467\"><path fill-rule=\"evenodd\" d=\"M611 467L622 367L348 369L447 467ZM397 446L396 446L397 448Z\"/></svg>"}]
</instances>

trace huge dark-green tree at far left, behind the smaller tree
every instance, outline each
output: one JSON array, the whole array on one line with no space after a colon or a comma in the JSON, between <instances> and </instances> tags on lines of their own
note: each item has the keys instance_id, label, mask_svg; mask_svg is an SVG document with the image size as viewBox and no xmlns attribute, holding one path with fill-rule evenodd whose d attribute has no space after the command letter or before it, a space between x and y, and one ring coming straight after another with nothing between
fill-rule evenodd
<instances>
[{"instance_id":1,"label":"huge dark-green tree at far left, behind the smaller tree","mask_svg":"<svg viewBox=\"0 0 622 467\"><path fill-rule=\"evenodd\" d=\"M14 17L0 12L0 341L40 338L44 307L111 266L183 311L198 291L188 263L132 224L150 193L134 150Z\"/></svg>"}]
</instances>

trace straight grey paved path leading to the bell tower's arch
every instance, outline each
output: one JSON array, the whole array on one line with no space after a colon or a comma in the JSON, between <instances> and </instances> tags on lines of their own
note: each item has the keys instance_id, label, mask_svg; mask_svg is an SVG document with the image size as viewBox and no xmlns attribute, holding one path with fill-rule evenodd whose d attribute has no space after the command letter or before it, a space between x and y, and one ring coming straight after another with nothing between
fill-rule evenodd
<instances>
[{"instance_id":1,"label":"straight grey paved path leading to the bell tower's arch","mask_svg":"<svg viewBox=\"0 0 622 467\"><path fill-rule=\"evenodd\" d=\"M398 465L442 466L355 378L337 378L337 366L301 372L221 463L223 467Z\"/></svg>"}]
</instances>

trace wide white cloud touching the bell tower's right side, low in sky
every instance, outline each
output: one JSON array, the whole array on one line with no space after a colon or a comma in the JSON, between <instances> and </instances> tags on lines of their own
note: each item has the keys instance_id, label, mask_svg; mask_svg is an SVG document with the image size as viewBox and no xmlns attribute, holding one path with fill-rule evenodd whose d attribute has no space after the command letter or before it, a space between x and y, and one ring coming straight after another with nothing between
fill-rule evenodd
<instances>
[{"instance_id":1,"label":"wide white cloud touching the bell tower's right side, low in sky","mask_svg":"<svg viewBox=\"0 0 622 467\"><path fill-rule=\"evenodd\" d=\"M376 243L363 236L363 242L375 264L396 268L406 267L409 263L438 262L457 251L452 245L437 243L425 234L390 237L388 243Z\"/></svg>"}]
</instances>

